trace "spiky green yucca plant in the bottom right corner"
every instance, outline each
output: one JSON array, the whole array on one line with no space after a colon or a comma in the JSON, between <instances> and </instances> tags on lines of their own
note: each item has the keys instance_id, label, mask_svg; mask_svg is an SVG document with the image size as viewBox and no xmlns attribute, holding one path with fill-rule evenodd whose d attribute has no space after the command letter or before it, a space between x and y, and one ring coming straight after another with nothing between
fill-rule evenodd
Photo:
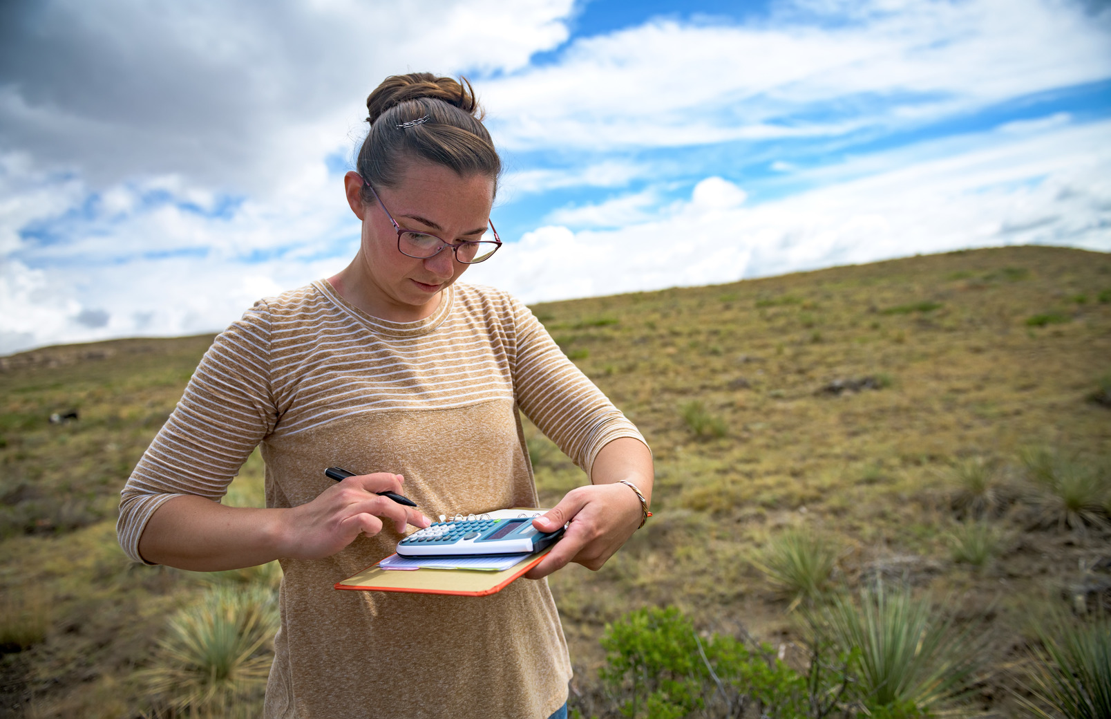
<instances>
[{"instance_id":1,"label":"spiky green yucca plant in the bottom right corner","mask_svg":"<svg viewBox=\"0 0 1111 719\"><path fill-rule=\"evenodd\" d=\"M1044 719L1111 717L1111 620L1080 622L1061 613L1034 626L1042 649L1032 652L1032 701Z\"/></svg>"}]
</instances>

